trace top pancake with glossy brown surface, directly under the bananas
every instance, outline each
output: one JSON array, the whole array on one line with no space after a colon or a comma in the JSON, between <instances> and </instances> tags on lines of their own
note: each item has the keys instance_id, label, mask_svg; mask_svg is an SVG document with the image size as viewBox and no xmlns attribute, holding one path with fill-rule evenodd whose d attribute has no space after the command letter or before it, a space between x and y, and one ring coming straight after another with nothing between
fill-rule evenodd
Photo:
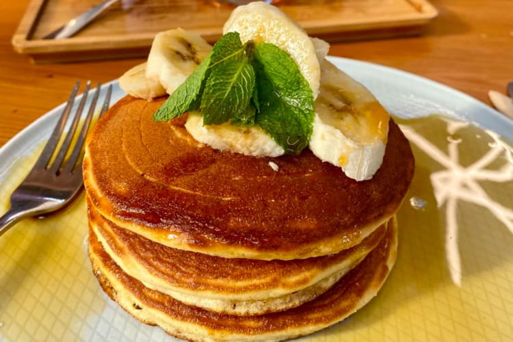
<instances>
[{"instance_id":1,"label":"top pancake with glossy brown surface, directly under the bananas","mask_svg":"<svg viewBox=\"0 0 513 342\"><path fill-rule=\"evenodd\" d=\"M339 252L391 218L412 179L412 152L393 122L380 170L356 182L309 150L213 150L187 133L185 116L154 122L162 102L127 96L111 107L89 135L83 174L102 215L166 246L248 259Z\"/></svg>"}]
</instances>

